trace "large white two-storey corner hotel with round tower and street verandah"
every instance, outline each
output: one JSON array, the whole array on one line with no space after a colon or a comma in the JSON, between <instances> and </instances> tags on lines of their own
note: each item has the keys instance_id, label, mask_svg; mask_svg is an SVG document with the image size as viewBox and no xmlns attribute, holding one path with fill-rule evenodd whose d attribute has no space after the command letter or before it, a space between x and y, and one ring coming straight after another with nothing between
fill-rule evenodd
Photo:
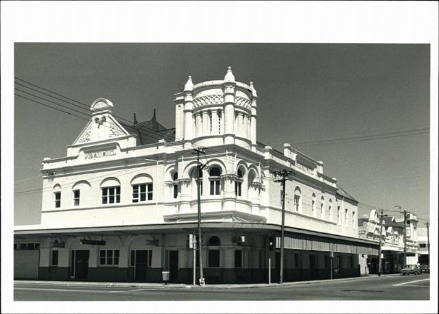
<instances>
[{"instance_id":1,"label":"large white two-storey corner hotel with round tower and street verandah","mask_svg":"<svg viewBox=\"0 0 439 314\"><path fill-rule=\"evenodd\" d=\"M294 171L285 189L284 280L359 276L377 244L358 238L357 201L321 161L257 142L257 99L229 68L224 80L194 85L189 77L176 94L175 130L155 112L127 123L111 101L94 101L67 156L43 160L41 224L14 232L15 278L160 281L169 270L171 281L191 282L200 146L206 283L266 282L269 258L278 280L281 186L273 172L282 169Z\"/></svg>"}]
</instances>

